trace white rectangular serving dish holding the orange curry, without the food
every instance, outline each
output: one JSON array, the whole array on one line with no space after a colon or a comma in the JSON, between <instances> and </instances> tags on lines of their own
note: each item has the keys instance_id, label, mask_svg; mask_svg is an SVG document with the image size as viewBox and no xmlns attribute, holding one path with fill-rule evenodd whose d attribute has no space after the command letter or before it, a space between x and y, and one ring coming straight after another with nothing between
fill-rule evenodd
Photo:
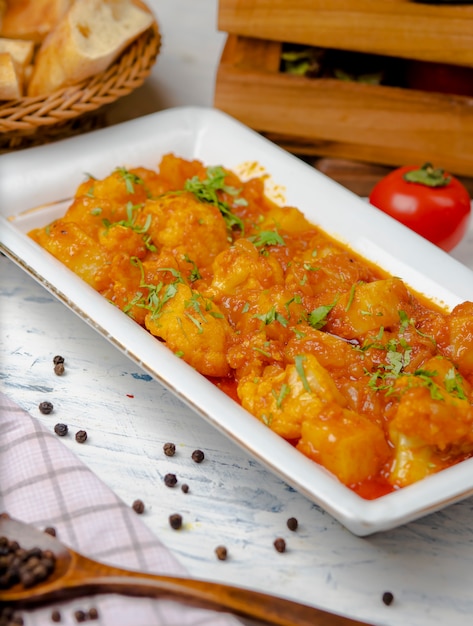
<instances>
[{"instance_id":1,"label":"white rectangular serving dish holding the orange curry, without the food","mask_svg":"<svg viewBox=\"0 0 473 626\"><path fill-rule=\"evenodd\" d=\"M157 167L173 152L236 172L257 162L286 204L415 290L453 307L471 299L473 273L311 166L213 109L177 108L39 148L0 156L2 250L101 335L204 419L353 533L387 530L473 494L473 459L364 500L253 418L26 233L59 217L84 180L119 166ZM30 210L40 205L53 203Z\"/></svg>"}]
</instances>

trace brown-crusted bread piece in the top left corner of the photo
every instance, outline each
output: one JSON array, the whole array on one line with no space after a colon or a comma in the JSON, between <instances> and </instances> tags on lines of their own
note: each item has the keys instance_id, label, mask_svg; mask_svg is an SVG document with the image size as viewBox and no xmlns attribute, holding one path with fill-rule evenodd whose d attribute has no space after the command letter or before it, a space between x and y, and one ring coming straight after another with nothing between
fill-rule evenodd
<instances>
[{"instance_id":1,"label":"brown-crusted bread piece in the top left corner of the photo","mask_svg":"<svg viewBox=\"0 0 473 626\"><path fill-rule=\"evenodd\" d=\"M0 35L41 43L74 0L8 0Z\"/></svg>"}]
</instances>

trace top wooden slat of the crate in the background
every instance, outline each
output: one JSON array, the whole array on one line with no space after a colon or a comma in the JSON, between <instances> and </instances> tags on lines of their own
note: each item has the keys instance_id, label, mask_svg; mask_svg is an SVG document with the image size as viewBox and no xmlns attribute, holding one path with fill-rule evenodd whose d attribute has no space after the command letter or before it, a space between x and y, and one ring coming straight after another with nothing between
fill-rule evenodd
<instances>
[{"instance_id":1,"label":"top wooden slat of the crate in the background","mask_svg":"<svg viewBox=\"0 0 473 626\"><path fill-rule=\"evenodd\" d=\"M258 39L473 66L473 5L220 0L218 27Z\"/></svg>"}]
</instances>

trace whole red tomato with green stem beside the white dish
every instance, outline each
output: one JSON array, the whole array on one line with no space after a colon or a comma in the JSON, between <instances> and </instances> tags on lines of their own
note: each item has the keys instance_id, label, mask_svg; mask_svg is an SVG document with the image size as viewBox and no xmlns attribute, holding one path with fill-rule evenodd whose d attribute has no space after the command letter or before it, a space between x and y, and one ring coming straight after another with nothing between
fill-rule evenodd
<instances>
[{"instance_id":1,"label":"whole red tomato with green stem beside the white dish","mask_svg":"<svg viewBox=\"0 0 473 626\"><path fill-rule=\"evenodd\" d=\"M427 163L407 165L382 178L370 203L449 252L468 228L471 199L464 185Z\"/></svg>"}]
</instances>

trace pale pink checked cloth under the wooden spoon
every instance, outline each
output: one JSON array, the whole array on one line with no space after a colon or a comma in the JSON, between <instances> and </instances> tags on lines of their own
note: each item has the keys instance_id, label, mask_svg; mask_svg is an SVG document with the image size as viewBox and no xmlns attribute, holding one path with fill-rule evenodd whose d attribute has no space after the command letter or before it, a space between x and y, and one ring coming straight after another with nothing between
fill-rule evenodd
<instances>
[{"instance_id":1,"label":"pale pink checked cloth under the wooden spoon","mask_svg":"<svg viewBox=\"0 0 473 626\"><path fill-rule=\"evenodd\" d=\"M57 538L86 556L140 571L186 576L185 569L144 524L59 438L0 393L0 512ZM0 591L1 599L1 591ZM238 626L236 617L170 600L115 594L21 610L25 626L77 625L75 611L96 608L97 626Z\"/></svg>"}]
</instances>

